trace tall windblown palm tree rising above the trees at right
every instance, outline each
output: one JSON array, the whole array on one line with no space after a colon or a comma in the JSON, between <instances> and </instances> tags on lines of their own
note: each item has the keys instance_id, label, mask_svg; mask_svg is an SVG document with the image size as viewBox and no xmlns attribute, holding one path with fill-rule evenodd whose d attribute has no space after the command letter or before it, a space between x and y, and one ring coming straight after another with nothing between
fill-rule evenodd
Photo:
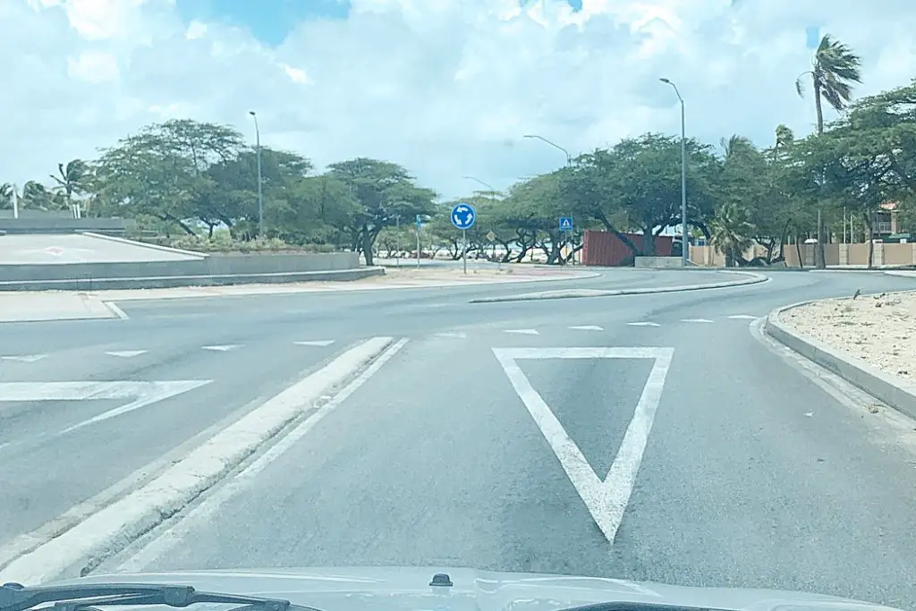
<instances>
[{"instance_id":1,"label":"tall windblown palm tree rising above the trees at right","mask_svg":"<svg viewBox=\"0 0 916 611\"><path fill-rule=\"evenodd\" d=\"M817 135L823 136L823 100L839 113L852 98L853 85L862 82L862 58L829 34L824 34L812 58L812 70L795 80L795 91L804 97L804 80L811 77L814 88L814 110L817 112ZM817 267L826 267L823 255L823 219L817 209Z\"/></svg>"}]
</instances>

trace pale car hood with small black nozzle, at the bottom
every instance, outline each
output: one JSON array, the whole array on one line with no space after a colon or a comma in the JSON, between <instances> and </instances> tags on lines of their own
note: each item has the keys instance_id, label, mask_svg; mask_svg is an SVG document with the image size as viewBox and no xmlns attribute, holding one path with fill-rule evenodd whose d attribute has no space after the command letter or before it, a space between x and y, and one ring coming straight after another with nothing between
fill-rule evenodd
<instances>
[{"instance_id":1,"label":"pale car hood with small black nozzle, at the bottom","mask_svg":"<svg viewBox=\"0 0 916 611\"><path fill-rule=\"evenodd\" d=\"M446 573L452 585L431 585ZM629 582L543 573L442 567L361 567L116 573L67 583L157 583L288 599L322 611L557 611L611 601L742 611L891 611L836 596ZM893 610L899 611L899 610Z\"/></svg>"}]
</instances>

